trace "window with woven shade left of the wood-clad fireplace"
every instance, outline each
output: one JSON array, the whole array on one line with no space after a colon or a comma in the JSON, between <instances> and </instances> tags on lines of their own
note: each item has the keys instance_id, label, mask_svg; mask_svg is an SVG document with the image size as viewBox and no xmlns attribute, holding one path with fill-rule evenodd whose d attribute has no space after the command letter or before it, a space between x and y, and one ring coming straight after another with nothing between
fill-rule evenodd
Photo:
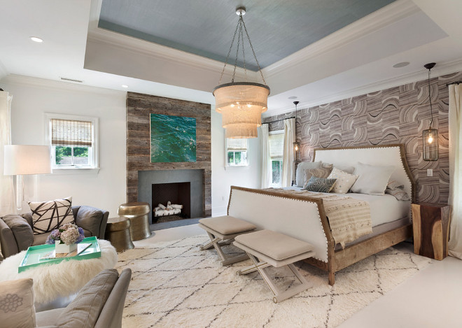
<instances>
[{"instance_id":1,"label":"window with woven shade left of the wood-clad fireplace","mask_svg":"<svg viewBox=\"0 0 462 328\"><path fill-rule=\"evenodd\" d=\"M97 169L97 117L45 116L53 169Z\"/></svg>"}]
</instances>

